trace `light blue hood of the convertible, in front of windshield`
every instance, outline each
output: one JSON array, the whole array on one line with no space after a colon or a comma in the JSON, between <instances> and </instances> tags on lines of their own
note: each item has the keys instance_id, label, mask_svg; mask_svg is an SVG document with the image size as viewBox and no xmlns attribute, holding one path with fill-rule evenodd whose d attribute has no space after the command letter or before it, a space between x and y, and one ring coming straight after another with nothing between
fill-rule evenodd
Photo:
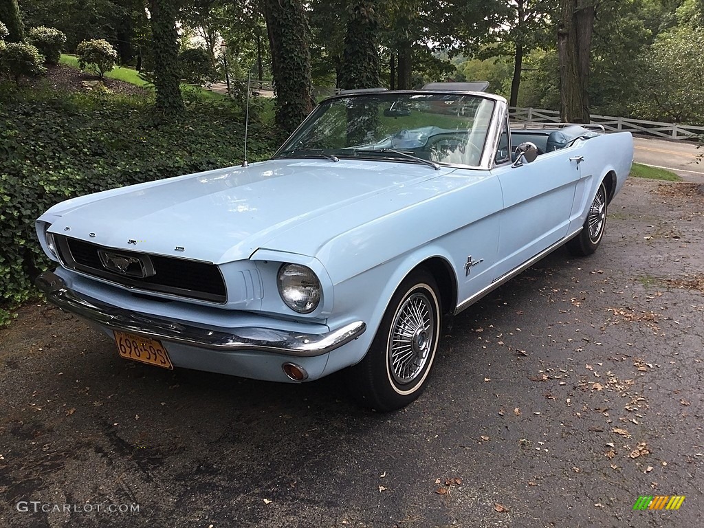
<instances>
[{"instance_id":1,"label":"light blue hood of the convertible, in front of windshield","mask_svg":"<svg viewBox=\"0 0 704 528\"><path fill-rule=\"evenodd\" d=\"M418 184L452 171L375 161L267 161L84 196L39 220L51 222L51 232L103 246L213 263L249 258L260 248L289 251L268 246L272 239L313 256L340 230L427 199L432 186ZM373 208L349 208L344 226L322 218L370 200ZM311 220L312 232L295 229Z\"/></svg>"}]
</instances>

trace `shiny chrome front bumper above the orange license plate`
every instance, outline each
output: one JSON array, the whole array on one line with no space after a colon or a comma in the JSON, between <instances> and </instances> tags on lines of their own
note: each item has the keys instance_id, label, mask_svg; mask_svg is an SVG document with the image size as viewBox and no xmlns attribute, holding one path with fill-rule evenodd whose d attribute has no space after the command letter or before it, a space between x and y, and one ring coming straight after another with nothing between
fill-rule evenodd
<instances>
[{"instance_id":1,"label":"shiny chrome front bumper above the orange license plate","mask_svg":"<svg viewBox=\"0 0 704 528\"><path fill-rule=\"evenodd\" d=\"M298 357L321 356L357 339L367 329L364 322L357 321L324 334L302 334L260 327L237 328L237 333L222 332L132 312L86 298L69 289L54 272L42 273L34 283L44 291L47 300L58 308L99 325L221 352L247 350Z\"/></svg>"}]
</instances>

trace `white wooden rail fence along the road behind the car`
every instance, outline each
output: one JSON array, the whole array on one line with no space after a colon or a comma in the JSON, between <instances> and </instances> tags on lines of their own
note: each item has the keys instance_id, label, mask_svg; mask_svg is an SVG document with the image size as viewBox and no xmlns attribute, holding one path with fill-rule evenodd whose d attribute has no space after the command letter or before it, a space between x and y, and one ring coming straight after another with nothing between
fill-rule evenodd
<instances>
[{"instance_id":1,"label":"white wooden rail fence along the road behind the car","mask_svg":"<svg viewBox=\"0 0 704 528\"><path fill-rule=\"evenodd\" d=\"M560 112L539 108L509 107L511 119L518 122L560 122ZM591 124L601 125L610 132L626 130L634 134L664 137L667 139L690 139L704 134L704 127L677 125L674 123L644 121L641 119L615 118L610 115L590 115Z\"/></svg>"}]
</instances>

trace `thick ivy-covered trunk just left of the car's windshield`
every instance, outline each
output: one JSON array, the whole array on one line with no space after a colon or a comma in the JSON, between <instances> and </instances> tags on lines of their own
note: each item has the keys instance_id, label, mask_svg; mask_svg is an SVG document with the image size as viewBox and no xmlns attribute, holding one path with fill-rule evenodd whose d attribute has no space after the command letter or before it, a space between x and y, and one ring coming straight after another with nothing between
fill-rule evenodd
<instances>
[{"instance_id":1,"label":"thick ivy-covered trunk just left of the car's windshield","mask_svg":"<svg viewBox=\"0 0 704 528\"><path fill-rule=\"evenodd\" d=\"M293 132L313 110L310 27L301 0L264 0L276 92L276 124Z\"/></svg>"}]
</instances>

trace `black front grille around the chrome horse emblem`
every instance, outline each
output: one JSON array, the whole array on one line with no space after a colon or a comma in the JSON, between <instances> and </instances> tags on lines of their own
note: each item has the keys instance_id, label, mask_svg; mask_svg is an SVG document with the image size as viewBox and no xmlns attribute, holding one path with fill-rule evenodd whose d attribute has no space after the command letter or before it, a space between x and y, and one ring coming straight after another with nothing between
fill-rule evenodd
<instances>
[{"instance_id":1,"label":"black front grille around the chrome horse emblem","mask_svg":"<svg viewBox=\"0 0 704 528\"><path fill-rule=\"evenodd\" d=\"M56 235L55 239L61 262L69 269L144 291L157 291L215 303L227 301L225 280L215 264L103 248L97 244L59 235ZM98 253L101 249L118 256L148 259L153 265L154 273L149 277L129 277L113 272L103 265Z\"/></svg>"}]
</instances>

